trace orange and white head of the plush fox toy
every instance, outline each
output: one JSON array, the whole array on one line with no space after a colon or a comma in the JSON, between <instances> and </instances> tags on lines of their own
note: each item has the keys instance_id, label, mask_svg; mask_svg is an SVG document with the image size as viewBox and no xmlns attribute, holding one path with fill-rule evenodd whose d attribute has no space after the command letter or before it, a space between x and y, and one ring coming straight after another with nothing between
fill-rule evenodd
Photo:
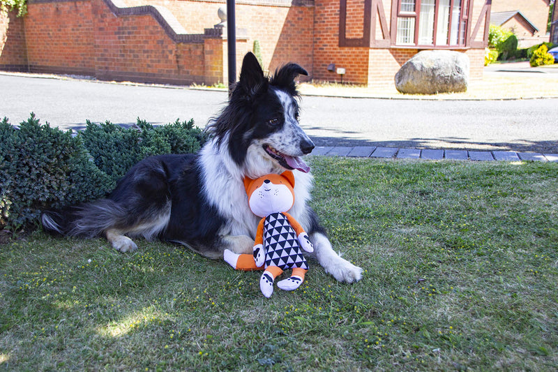
<instances>
[{"instance_id":1,"label":"orange and white head of the plush fox toy","mask_svg":"<svg viewBox=\"0 0 558 372\"><path fill-rule=\"evenodd\" d=\"M245 178L244 188L250 210L259 217L289 211L294 204L294 175L288 170L257 179Z\"/></svg>"}]
</instances>

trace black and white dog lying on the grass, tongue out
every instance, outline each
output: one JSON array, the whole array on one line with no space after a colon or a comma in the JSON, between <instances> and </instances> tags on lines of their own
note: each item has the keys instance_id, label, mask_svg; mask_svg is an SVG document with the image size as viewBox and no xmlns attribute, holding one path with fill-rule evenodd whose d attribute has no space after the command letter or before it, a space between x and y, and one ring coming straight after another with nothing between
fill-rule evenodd
<instances>
[{"instance_id":1,"label":"black and white dog lying on the grass, tongue out","mask_svg":"<svg viewBox=\"0 0 558 372\"><path fill-rule=\"evenodd\" d=\"M287 64L266 77L255 56L244 57L228 105L211 119L211 140L198 154L162 155L137 163L102 200L45 211L43 226L77 237L105 236L121 252L134 251L130 237L183 244L208 258L225 248L252 253L257 216L248 208L243 179L298 170L289 211L310 235L314 255L338 281L359 281L362 269L333 251L310 200L312 176L301 156L314 144L299 126L294 78L308 75Z\"/></svg>"}]
</instances>

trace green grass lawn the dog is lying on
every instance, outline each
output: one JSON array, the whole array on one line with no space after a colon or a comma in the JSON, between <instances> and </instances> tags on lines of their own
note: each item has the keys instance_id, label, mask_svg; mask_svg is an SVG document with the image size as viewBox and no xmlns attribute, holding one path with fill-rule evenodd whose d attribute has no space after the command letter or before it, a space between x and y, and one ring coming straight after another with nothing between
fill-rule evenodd
<instances>
[{"instance_id":1,"label":"green grass lawn the dog is lying on","mask_svg":"<svg viewBox=\"0 0 558 372\"><path fill-rule=\"evenodd\" d=\"M0 246L0 369L531 370L558 365L558 164L313 158L353 285L299 290L185 248Z\"/></svg>"}]
</instances>

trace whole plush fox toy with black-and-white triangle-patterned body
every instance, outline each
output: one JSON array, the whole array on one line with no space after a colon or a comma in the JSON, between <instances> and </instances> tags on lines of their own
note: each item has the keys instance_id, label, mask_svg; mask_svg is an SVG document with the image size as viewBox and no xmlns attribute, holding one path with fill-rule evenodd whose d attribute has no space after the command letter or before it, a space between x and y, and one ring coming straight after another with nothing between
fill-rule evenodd
<instances>
[{"instance_id":1,"label":"whole plush fox toy with black-and-white triangle-patterned body","mask_svg":"<svg viewBox=\"0 0 558 372\"><path fill-rule=\"evenodd\" d=\"M290 214L294 204L294 175L287 170L282 174L267 174L258 179L244 179L248 205L256 216L262 217L257 227L253 255L237 255L225 250L225 261L239 270L264 269L259 288L265 297L273 294L273 281L285 269L292 276L277 283L282 290L296 290L304 281L308 263L301 247L314 251L303 230Z\"/></svg>"}]
</instances>

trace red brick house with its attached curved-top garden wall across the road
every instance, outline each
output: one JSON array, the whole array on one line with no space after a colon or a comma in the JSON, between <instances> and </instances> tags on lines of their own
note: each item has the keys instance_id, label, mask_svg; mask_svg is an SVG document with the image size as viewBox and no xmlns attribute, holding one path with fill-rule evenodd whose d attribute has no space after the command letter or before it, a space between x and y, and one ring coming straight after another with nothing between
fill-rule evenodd
<instances>
[{"instance_id":1,"label":"red brick house with its attached curved-top garden wall across the road","mask_svg":"<svg viewBox=\"0 0 558 372\"><path fill-rule=\"evenodd\" d=\"M538 0L537 0L538 1ZM420 50L458 50L482 77L491 0L237 0L238 63L254 40L264 67L314 80L393 84ZM227 81L225 0L29 0L0 16L0 69L173 84ZM335 69L332 68L335 65ZM328 68L330 67L330 68Z\"/></svg>"}]
</instances>

